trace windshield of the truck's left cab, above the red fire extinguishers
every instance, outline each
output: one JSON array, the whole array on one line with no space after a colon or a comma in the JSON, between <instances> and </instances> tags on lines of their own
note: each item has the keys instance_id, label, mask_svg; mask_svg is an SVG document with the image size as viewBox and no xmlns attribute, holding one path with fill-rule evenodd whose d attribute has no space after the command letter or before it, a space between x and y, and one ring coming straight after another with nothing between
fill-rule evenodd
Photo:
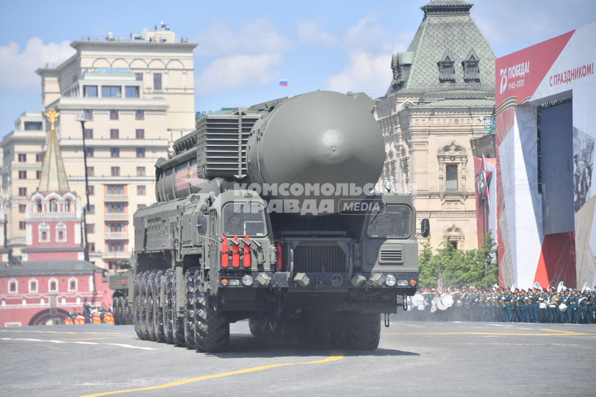
<instances>
[{"instance_id":1,"label":"windshield of the truck's left cab, above the red fire extinguishers","mask_svg":"<svg viewBox=\"0 0 596 397\"><path fill-rule=\"evenodd\" d=\"M267 228L263 206L250 201L228 203L224 206L224 234L226 236L265 236Z\"/></svg>"}]
</instances>

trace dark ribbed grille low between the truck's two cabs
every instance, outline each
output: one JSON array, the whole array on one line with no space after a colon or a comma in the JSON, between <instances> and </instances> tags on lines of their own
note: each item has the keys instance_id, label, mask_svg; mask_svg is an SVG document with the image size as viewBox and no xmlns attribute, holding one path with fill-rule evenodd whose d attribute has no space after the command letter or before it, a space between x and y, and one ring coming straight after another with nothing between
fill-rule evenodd
<instances>
[{"instance_id":1,"label":"dark ribbed grille low between the truck's two cabs","mask_svg":"<svg viewBox=\"0 0 596 397\"><path fill-rule=\"evenodd\" d=\"M294 273L344 273L346 254L339 245L299 245L294 248Z\"/></svg>"}]
</instances>

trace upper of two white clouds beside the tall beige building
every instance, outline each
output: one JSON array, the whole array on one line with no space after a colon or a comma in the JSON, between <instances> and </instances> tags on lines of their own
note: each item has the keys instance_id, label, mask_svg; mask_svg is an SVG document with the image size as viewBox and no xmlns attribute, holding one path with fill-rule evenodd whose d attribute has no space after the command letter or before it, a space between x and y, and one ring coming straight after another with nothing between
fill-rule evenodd
<instances>
[{"instance_id":1,"label":"upper of two white clouds beside the tall beige building","mask_svg":"<svg viewBox=\"0 0 596 397\"><path fill-rule=\"evenodd\" d=\"M229 54L263 54L287 51L291 42L277 32L271 21L261 18L244 23L238 32L221 21L198 35L196 53L217 57Z\"/></svg>"}]
</instances>

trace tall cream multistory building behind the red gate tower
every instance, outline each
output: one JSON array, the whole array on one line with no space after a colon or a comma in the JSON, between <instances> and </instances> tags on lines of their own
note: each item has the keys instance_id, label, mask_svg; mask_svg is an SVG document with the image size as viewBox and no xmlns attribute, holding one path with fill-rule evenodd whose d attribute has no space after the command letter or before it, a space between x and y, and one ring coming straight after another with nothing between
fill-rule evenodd
<instances>
[{"instance_id":1,"label":"tall cream multistory building behind the red gate tower","mask_svg":"<svg viewBox=\"0 0 596 397\"><path fill-rule=\"evenodd\" d=\"M129 37L110 32L106 37L84 36L71 46L76 54L68 60L36 70L42 82L42 109L60 112L55 123L58 144L70 190L83 205L85 134L89 257L98 266L113 268L115 261L129 258L134 249L132 215L138 207L155 202L157 158L167 158L173 140L194 130L193 49L197 44L176 37L162 25L162 30ZM44 145L48 132L49 123L44 123L44 131L39 132ZM44 151L45 147L37 147L37 153ZM33 160L35 155L31 160L27 157L30 167L41 170L41 162ZM11 162L13 168L17 165ZM27 174L26 180L17 183L15 171L11 174L10 201L20 187L27 187L27 196L35 192L39 182L35 175ZM21 239L24 245L24 230L14 221L10 228L17 240L11 246L9 239L8 248L16 255Z\"/></svg>"}]
</instances>

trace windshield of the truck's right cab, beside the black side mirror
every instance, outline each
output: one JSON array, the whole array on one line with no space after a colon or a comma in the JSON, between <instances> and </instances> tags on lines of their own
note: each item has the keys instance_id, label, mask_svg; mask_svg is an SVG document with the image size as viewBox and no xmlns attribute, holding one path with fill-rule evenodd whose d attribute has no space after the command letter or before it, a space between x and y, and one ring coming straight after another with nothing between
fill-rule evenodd
<instances>
[{"instance_id":1,"label":"windshield of the truck's right cab, beside the black side mirror","mask_svg":"<svg viewBox=\"0 0 596 397\"><path fill-rule=\"evenodd\" d=\"M412 210L406 205L382 205L371 211L367 235L374 238L403 239L410 236Z\"/></svg>"}]
</instances>

